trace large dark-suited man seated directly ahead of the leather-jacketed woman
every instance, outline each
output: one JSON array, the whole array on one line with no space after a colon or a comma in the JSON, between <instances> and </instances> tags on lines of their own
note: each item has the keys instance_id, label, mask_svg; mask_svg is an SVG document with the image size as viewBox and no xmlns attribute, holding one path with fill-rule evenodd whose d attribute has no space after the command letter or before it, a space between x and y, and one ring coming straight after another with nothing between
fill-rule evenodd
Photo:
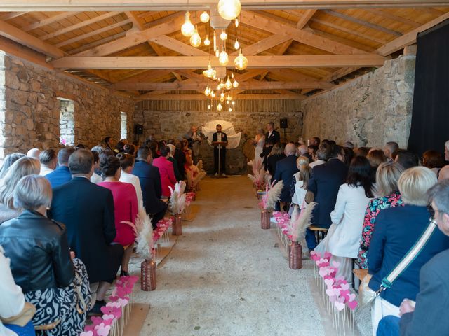
<instances>
[{"instance_id":1,"label":"large dark-suited man seated directly ahead of the leather-jacketed woman","mask_svg":"<svg viewBox=\"0 0 449 336\"><path fill-rule=\"evenodd\" d=\"M98 283L92 312L99 314L123 257L123 247L113 243L114 198L110 190L89 181L93 173L91 151L79 149L70 155L68 164L73 179L53 190L49 215L65 223L70 248L86 265L91 285Z\"/></svg>"}]
</instances>

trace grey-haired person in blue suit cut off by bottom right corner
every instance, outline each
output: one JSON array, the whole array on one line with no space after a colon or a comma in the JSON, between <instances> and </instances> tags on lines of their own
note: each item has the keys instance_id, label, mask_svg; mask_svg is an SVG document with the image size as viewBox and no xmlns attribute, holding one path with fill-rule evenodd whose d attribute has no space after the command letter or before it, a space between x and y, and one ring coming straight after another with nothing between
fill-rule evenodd
<instances>
[{"instance_id":1,"label":"grey-haired person in blue suit cut off by bottom right corner","mask_svg":"<svg viewBox=\"0 0 449 336\"><path fill-rule=\"evenodd\" d=\"M449 181L440 181L429 190L434 218L438 229L449 236ZM449 335L449 320L441 318L448 308L449 250L438 253L420 270L420 291L416 304L405 299L399 307L401 320L396 316L382 318L377 335L441 336Z\"/></svg>"}]
</instances>

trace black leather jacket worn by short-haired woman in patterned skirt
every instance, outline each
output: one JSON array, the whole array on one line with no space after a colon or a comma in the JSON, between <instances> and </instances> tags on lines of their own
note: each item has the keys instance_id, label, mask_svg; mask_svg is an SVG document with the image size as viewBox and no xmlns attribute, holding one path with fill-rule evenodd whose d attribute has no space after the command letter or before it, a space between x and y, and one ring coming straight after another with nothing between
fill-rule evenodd
<instances>
[{"instance_id":1,"label":"black leather jacket worn by short-haired woman in patterned skirt","mask_svg":"<svg viewBox=\"0 0 449 336\"><path fill-rule=\"evenodd\" d=\"M0 225L0 245L24 293L65 287L74 279L65 226L25 210Z\"/></svg>"}]
</instances>

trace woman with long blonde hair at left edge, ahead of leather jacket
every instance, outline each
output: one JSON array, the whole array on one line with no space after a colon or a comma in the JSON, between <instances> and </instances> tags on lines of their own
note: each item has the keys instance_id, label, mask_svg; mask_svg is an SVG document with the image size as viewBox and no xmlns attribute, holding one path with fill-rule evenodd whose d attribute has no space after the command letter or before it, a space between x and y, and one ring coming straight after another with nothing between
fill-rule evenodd
<instances>
[{"instance_id":1,"label":"woman with long blonde hair at left edge, ahead of leather jacket","mask_svg":"<svg viewBox=\"0 0 449 336\"><path fill-rule=\"evenodd\" d=\"M20 209L14 207L14 190L23 176L39 174L39 161L23 156L9 167L4 183L0 186L0 225L19 216Z\"/></svg>"}]
</instances>

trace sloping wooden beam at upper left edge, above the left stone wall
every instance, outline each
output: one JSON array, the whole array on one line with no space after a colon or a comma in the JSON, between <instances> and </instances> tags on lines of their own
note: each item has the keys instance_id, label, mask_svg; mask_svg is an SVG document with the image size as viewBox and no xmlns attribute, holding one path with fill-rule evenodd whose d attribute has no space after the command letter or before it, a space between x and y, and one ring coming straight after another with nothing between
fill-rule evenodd
<instances>
[{"instance_id":1,"label":"sloping wooden beam at upper left edge, above the left stone wall","mask_svg":"<svg viewBox=\"0 0 449 336\"><path fill-rule=\"evenodd\" d=\"M17 27L14 27L13 25L10 25L9 23L1 20L0 20L0 36L9 38L10 40L25 45L28 48L31 48L33 50L36 50L38 52L43 53L44 55L48 55L53 58L60 58L65 56L65 52L56 48L55 46L43 42L39 40L39 38L36 38L31 34L28 34L27 32L22 31Z\"/></svg>"}]
</instances>

